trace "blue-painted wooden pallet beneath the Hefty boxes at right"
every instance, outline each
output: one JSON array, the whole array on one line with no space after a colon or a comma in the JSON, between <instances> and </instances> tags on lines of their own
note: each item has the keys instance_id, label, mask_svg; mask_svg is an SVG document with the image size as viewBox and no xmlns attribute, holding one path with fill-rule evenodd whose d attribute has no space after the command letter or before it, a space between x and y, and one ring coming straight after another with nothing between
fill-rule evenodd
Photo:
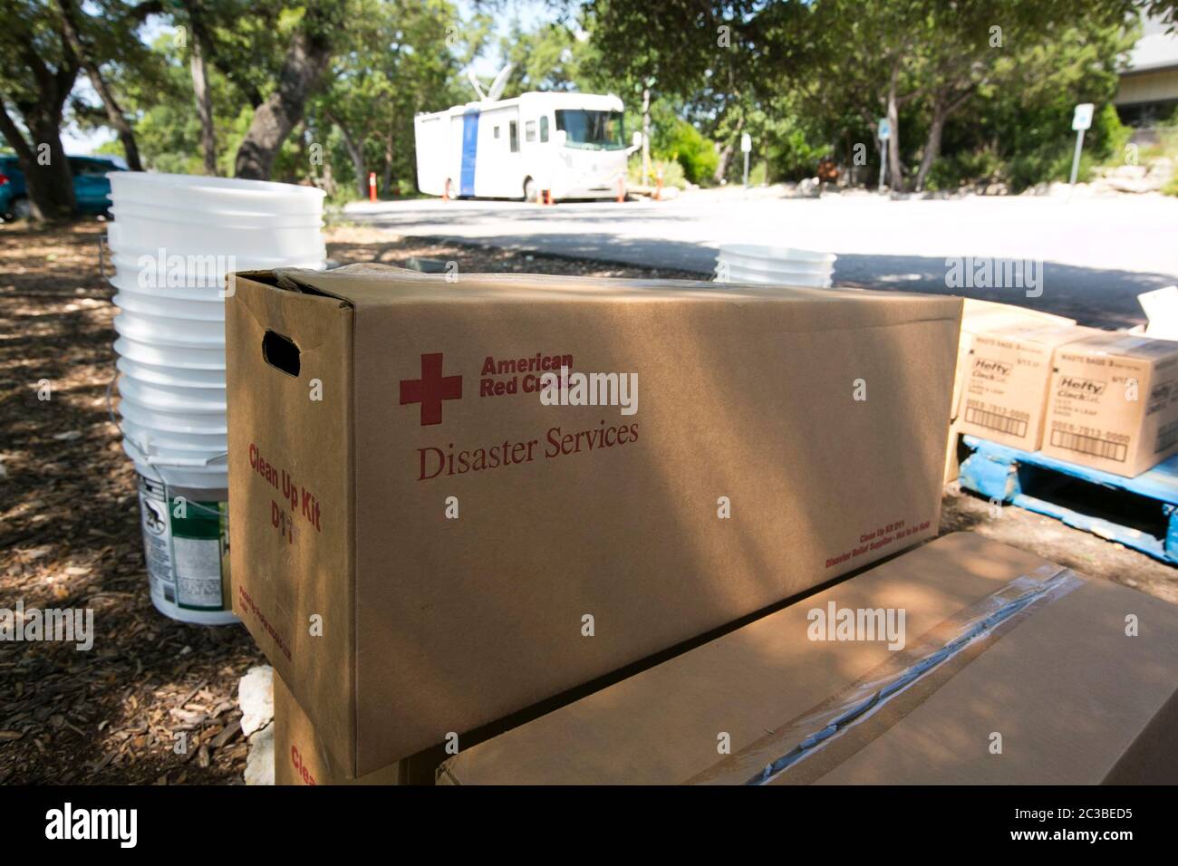
<instances>
[{"instance_id":1,"label":"blue-painted wooden pallet beneath the Hefty boxes at right","mask_svg":"<svg viewBox=\"0 0 1178 866\"><path fill-rule=\"evenodd\" d=\"M1136 478L962 436L961 487L1178 564L1178 455Z\"/></svg>"}]
</instances>

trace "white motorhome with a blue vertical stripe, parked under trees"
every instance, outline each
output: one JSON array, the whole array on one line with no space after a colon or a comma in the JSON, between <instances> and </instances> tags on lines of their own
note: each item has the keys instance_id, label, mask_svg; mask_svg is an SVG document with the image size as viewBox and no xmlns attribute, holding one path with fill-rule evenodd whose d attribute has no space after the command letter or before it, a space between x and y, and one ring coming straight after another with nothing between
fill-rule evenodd
<instances>
[{"instance_id":1,"label":"white motorhome with a blue vertical stripe, parked under trees","mask_svg":"<svg viewBox=\"0 0 1178 866\"><path fill-rule=\"evenodd\" d=\"M627 158L641 146L641 133L635 144L626 140L621 99L590 93L495 95L492 86L490 98L413 119L417 189L452 198L527 200L536 200L542 190L552 199L624 192Z\"/></svg>"}]
</instances>

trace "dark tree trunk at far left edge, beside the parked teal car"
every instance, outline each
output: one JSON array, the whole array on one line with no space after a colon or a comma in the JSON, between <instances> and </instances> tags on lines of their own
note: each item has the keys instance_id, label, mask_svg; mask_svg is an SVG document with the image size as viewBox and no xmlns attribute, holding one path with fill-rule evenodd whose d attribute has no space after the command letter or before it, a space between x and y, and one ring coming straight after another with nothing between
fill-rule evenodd
<instances>
[{"instance_id":1,"label":"dark tree trunk at far left edge, beside the parked teal car","mask_svg":"<svg viewBox=\"0 0 1178 866\"><path fill-rule=\"evenodd\" d=\"M14 5L0 27L0 133L16 152L33 218L64 219L77 201L61 145L62 112L81 64L46 4Z\"/></svg>"}]
</instances>

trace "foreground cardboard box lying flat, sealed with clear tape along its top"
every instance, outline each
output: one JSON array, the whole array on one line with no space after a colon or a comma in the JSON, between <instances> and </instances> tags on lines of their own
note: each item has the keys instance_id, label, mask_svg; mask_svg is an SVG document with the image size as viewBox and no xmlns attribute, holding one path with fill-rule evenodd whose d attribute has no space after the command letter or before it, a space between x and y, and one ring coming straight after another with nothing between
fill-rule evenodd
<instances>
[{"instance_id":1,"label":"foreground cardboard box lying flat, sealed with clear tape along its top","mask_svg":"<svg viewBox=\"0 0 1178 866\"><path fill-rule=\"evenodd\" d=\"M904 610L904 648L839 640L845 610L856 624ZM765 781L1178 782L1178 607L958 533L438 771L463 785Z\"/></svg>"}]
</instances>

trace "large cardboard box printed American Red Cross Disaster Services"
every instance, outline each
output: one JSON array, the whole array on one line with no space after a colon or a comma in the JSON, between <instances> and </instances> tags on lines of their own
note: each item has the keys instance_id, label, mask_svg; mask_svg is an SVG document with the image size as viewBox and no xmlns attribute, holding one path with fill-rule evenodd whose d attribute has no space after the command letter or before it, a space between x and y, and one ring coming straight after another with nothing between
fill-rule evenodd
<instances>
[{"instance_id":1,"label":"large cardboard box printed American Red Cross Disaster Services","mask_svg":"<svg viewBox=\"0 0 1178 866\"><path fill-rule=\"evenodd\" d=\"M937 531L961 302L238 275L234 609L352 775Z\"/></svg>"}]
</instances>

